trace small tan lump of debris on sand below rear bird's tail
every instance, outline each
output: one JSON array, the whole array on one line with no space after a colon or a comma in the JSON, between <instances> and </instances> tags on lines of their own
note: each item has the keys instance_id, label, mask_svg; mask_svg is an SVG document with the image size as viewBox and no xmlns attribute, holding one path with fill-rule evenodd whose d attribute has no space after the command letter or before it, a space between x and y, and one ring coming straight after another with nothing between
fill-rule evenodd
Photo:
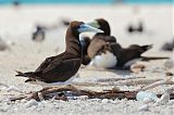
<instances>
[{"instance_id":1,"label":"small tan lump of debris on sand below rear bird's tail","mask_svg":"<svg viewBox=\"0 0 174 115\"><path fill-rule=\"evenodd\" d=\"M130 72L138 74L139 72L144 72L145 68L146 68L146 66L142 65L142 64L133 64L133 65L130 66Z\"/></svg>"}]
</instances>

